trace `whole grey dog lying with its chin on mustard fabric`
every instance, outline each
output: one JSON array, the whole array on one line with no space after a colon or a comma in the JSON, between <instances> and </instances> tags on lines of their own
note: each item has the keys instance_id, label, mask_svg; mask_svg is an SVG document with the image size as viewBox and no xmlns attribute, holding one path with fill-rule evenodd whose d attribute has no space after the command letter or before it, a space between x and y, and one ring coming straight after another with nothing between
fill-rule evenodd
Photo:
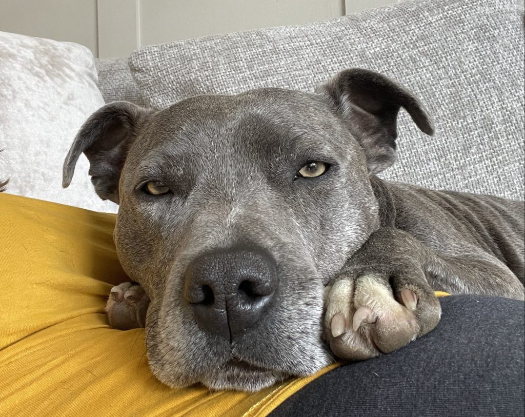
<instances>
[{"instance_id":1,"label":"whole grey dog lying with its chin on mustard fabric","mask_svg":"<svg viewBox=\"0 0 525 417\"><path fill-rule=\"evenodd\" d=\"M401 107L433 134L410 92L363 69L313 93L114 102L86 121L64 186L84 152L120 204L133 283L112 289L109 321L146 327L159 380L256 391L425 335L434 290L524 298L523 202L375 176L395 161Z\"/></svg>"}]
</instances>

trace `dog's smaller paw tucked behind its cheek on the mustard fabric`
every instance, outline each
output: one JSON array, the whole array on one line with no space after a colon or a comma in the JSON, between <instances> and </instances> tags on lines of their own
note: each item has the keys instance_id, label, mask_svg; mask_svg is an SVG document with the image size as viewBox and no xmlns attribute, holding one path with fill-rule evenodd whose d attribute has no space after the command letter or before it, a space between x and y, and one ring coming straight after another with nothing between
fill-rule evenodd
<instances>
[{"instance_id":1,"label":"dog's smaller paw tucked behind its cheek on the mustard fabric","mask_svg":"<svg viewBox=\"0 0 525 417\"><path fill-rule=\"evenodd\" d=\"M129 330L144 327L150 299L140 285L123 283L111 288L106 312L111 327Z\"/></svg>"}]
</instances>

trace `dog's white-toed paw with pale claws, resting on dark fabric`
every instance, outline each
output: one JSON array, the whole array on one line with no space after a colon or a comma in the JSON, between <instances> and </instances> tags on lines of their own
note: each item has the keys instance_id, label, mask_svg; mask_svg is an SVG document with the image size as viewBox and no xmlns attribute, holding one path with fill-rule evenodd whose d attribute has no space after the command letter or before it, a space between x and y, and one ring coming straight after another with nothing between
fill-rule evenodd
<instances>
[{"instance_id":1,"label":"dog's white-toed paw with pale claws, resting on dark fabric","mask_svg":"<svg viewBox=\"0 0 525 417\"><path fill-rule=\"evenodd\" d=\"M394 286L382 274L348 273L326 288L325 338L336 356L373 358L407 345L437 325L441 308L433 293Z\"/></svg>"}]
</instances>

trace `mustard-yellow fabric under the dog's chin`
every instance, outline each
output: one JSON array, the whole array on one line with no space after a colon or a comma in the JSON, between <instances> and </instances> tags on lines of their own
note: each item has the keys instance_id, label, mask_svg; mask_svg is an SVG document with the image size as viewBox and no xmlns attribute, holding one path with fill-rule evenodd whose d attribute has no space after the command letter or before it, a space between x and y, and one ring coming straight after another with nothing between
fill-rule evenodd
<instances>
[{"instance_id":1,"label":"mustard-yellow fabric under the dog's chin","mask_svg":"<svg viewBox=\"0 0 525 417\"><path fill-rule=\"evenodd\" d=\"M0 194L0 415L261 417L338 366L255 394L165 387L148 368L144 330L111 329L103 312L127 280L114 220Z\"/></svg>"}]
</instances>

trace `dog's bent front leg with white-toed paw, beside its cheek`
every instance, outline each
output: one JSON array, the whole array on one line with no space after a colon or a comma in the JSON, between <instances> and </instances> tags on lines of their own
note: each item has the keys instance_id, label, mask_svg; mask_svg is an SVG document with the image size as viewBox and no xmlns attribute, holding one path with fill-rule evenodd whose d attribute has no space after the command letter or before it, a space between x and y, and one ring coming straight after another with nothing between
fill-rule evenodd
<instances>
[{"instance_id":1,"label":"dog's bent front leg with white-toed paw, beside its cheek","mask_svg":"<svg viewBox=\"0 0 525 417\"><path fill-rule=\"evenodd\" d=\"M525 295L518 278L497 258L439 255L406 232L380 228L327 286L325 337L342 359L392 352L438 324L441 307L434 290L439 289Z\"/></svg>"}]
</instances>

